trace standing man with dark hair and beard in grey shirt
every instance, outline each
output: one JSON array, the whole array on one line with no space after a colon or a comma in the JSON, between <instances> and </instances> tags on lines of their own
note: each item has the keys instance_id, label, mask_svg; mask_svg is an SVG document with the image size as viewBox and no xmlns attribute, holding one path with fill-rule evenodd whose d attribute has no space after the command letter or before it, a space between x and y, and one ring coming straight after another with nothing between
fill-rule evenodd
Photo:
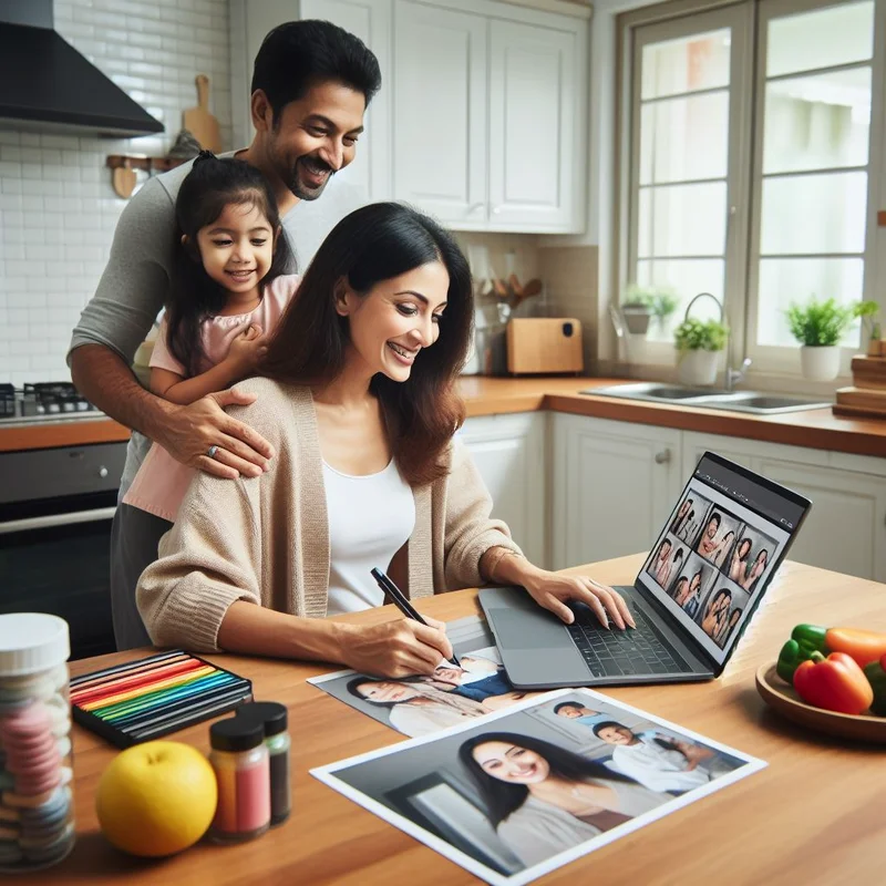
<instances>
[{"instance_id":1,"label":"standing man with dark hair and beard in grey shirt","mask_svg":"<svg viewBox=\"0 0 886 886\"><path fill-rule=\"evenodd\" d=\"M281 24L265 38L256 55L250 100L256 136L236 156L260 169L270 183L302 266L310 254L300 251L300 244L313 241L316 247L319 227L317 214L305 205L320 197L330 178L353 159L363 114L380 86L372 52L329 22ZM224 411L251 402L251 396L224 391L181 406L142 388L130 368L166 298L175 198L189 169L188 163L152 179L130 202L117 223L107 267L71 341L74 384L133 429L121 499L152 440L183 464L218 477L257 476L274 457L264 437ZM151 642L135 606L135 587L156 559L159 538L169 525L128 505L117 506L111 601L119 649Z\"/></svg>"}]
</instances>

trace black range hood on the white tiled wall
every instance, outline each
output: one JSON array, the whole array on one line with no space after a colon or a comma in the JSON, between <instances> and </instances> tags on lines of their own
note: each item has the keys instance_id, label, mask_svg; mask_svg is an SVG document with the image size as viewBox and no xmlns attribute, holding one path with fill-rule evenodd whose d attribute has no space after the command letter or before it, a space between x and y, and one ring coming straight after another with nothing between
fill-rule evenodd
<instances>
[{"instance_id":1,"label":"black range hood on the white tiled wall","mask_svg":"<svg viewBox=\"0 0 886 886\"><path fill-rule=\"evenodd\" d=\"M52 0L0 0L0 126L119 137L163 132L55 32Z\"/></svg>"}]
</instances>

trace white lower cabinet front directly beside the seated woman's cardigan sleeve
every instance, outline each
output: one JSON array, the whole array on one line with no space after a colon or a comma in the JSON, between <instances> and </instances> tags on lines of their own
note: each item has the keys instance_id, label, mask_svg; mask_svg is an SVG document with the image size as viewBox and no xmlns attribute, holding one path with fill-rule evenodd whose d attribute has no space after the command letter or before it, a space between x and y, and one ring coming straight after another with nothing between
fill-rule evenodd
<instances>
[{"instance_id":1,"label":"white lower cabinet front directly beside the seated woman's cardigan sleeve","mask_svg":"<svg viewBox=\"0 0 886 886\"><path fill-rule=\"evenodd\" d=\"M461 439L514 540L537 566L548 566L546 454L547 413L468 419Z\"/></svg>"}]
</instances>

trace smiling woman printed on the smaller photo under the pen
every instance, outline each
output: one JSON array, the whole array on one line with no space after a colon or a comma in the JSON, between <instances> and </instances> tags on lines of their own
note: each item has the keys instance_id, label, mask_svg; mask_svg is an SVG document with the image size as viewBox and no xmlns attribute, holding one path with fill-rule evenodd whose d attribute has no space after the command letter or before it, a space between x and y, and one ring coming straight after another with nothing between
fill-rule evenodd
<instances>
[{"instance_id":1,"label":"smiling woman printed on the smaller photo under the pen","mask_svg":"<svg viewBox=\"0 0 886 886\"><path fill-rule=\"evenodd\" d=\"M388 707L391 725L411 738L429 735L492 710L472 699L446 694L423 683L354 677L348 683L348 691L354 698Z\"/></svg>"}]
</instances>

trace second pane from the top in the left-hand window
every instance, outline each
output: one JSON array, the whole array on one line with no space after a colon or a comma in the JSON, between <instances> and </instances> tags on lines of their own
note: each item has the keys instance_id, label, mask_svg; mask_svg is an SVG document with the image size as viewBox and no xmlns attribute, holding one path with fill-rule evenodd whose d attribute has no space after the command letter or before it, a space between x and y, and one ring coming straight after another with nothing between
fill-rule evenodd
<instances>
[{"instance_id":1,"label":"second pane from the top in the left-hand window","mask_svg":"<svg viewBox=\"0 0 886 886\"><path fill-rule=\"evenodd\" d=\"M725 90L641 106L641 185L725 177L728 152Z\"/></svg>"}]
</instances>

